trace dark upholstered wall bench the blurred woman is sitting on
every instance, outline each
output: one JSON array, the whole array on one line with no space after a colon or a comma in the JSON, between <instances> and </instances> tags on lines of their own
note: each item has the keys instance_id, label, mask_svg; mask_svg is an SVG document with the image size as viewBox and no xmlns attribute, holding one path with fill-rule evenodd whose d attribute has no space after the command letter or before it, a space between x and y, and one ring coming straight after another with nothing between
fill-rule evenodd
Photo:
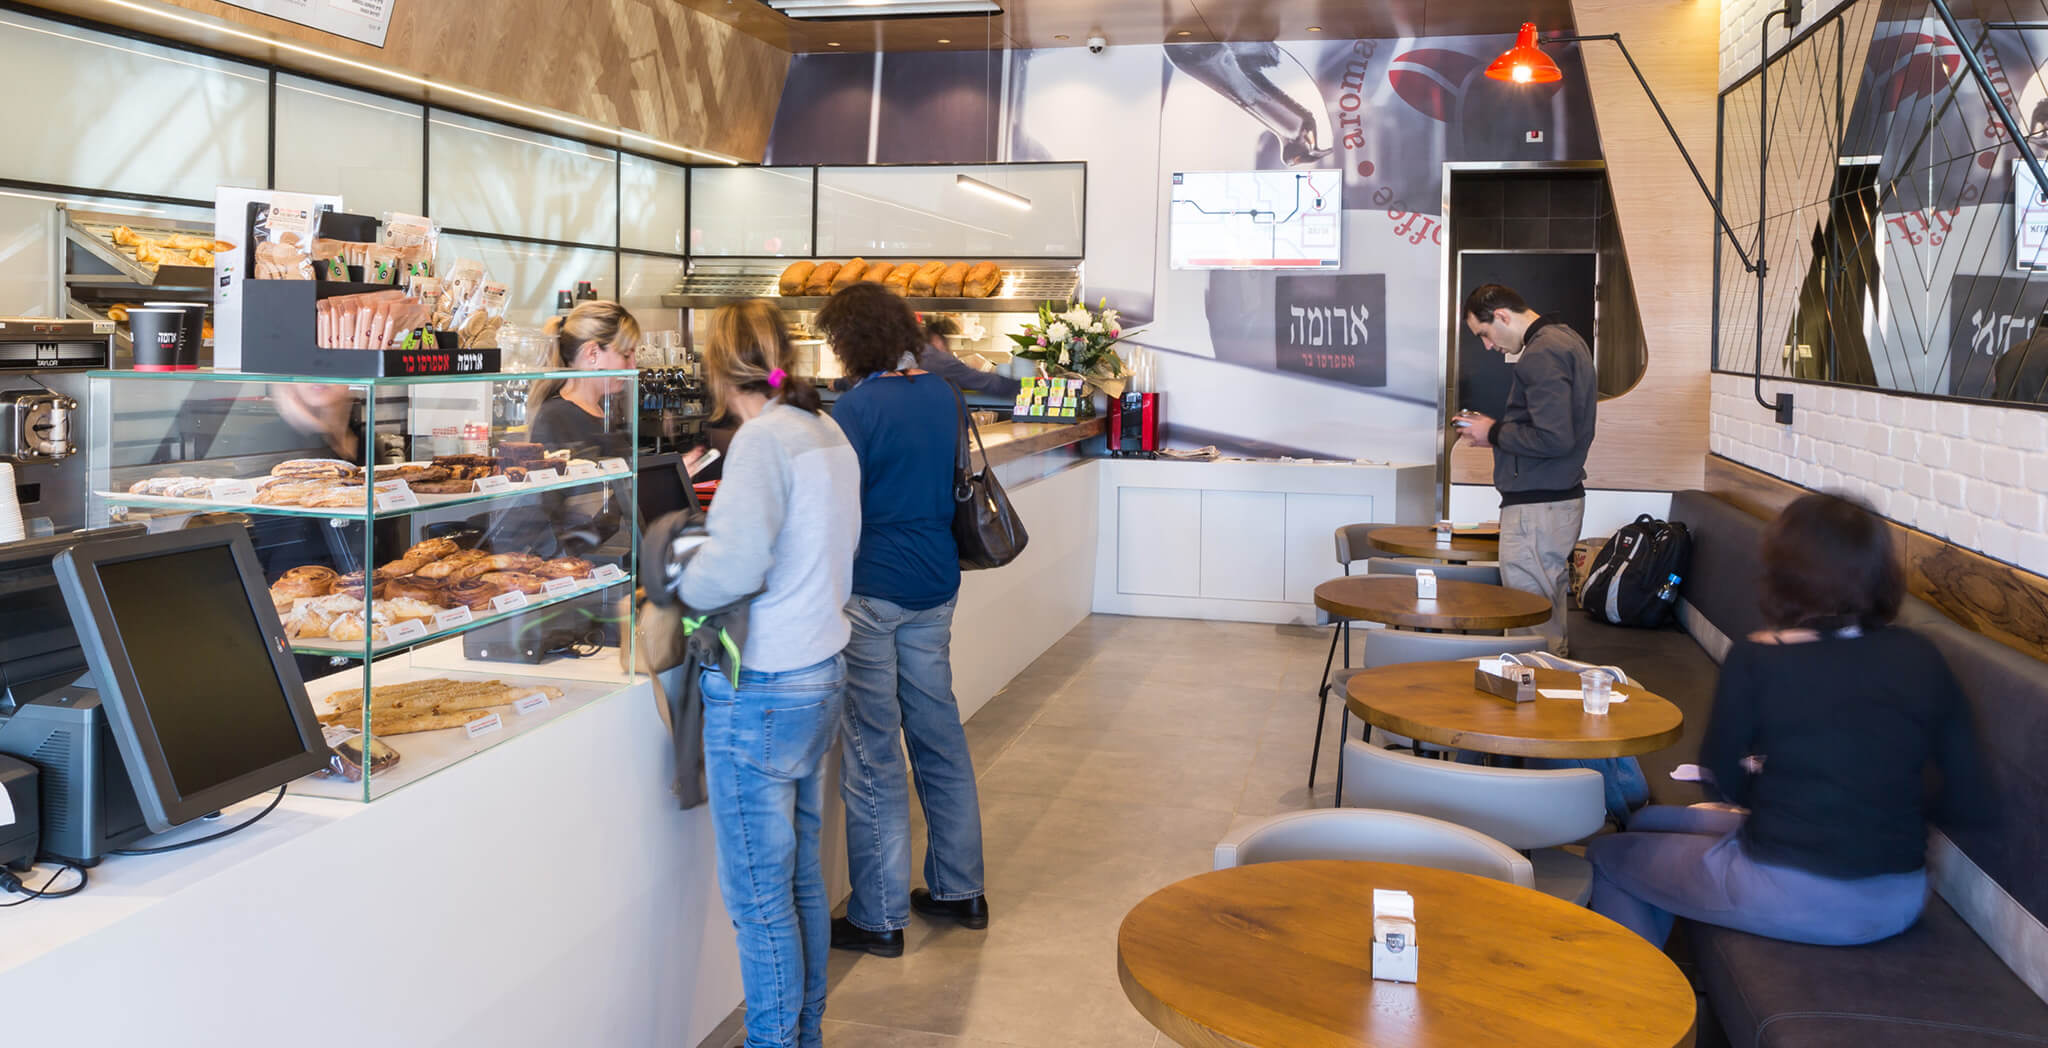
<instances>
[{"instance_id":1,"label":"dark upholstered wall bench the blurred woman is sitting on","mask_svg":"<svg viewBox=\"0 0 2048 1048\"><path fill-rule=\"evenodd\" d=\"M1700 800L1671 768L1698 759L1726 639L1761 626L1757 544L1763 520L1704 491L1673 497L1671 518L1694 534L1686 579L1692 630L1624 630L1583 614L1575 659L1618 663L1677 702L1686 735L1642 757L1651 796ZM1901 624L1931 637L1968 692L2003 809L1995 829L1956 845L2040 919L2048 913L2048 665L1956 626L1911 600ZM1696 639L1698 637L1698 639ZM2048 1003L1939 897L1907 933L1855 948L1800 946L1688 925L1702 989L1733 1048L2019 1048L2048 1046Z\"/></svg>"}]
</instances>

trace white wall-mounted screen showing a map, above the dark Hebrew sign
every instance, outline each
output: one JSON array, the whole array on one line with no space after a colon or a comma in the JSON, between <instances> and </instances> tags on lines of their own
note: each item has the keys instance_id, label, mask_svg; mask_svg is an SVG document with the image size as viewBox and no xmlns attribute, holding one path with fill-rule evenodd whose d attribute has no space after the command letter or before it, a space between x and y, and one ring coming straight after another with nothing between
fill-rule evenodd
<instances>
[{"instance_id":1,"label":"white wall-mounted screen showing a map, above the dark Hebrew sign","mask_svg":"<svg viewBox=\"0 0 2048 1048\"><path fill-rule=\"evenodd\" d=\"M1341 172L1176 172L1176 270L1335 270Z\"/></svg>"}]
</instances>

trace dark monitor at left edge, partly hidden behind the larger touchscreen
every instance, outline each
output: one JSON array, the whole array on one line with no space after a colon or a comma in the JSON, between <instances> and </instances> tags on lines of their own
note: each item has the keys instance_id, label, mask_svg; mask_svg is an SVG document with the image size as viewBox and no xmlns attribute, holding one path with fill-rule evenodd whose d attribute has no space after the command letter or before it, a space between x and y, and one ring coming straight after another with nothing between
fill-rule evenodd
<instances>
[{"instance_id":1,"label":"dark monitor at left edge, partly hidden behind the larger touchscreen","mask_svg":"<svg viewBox=\"0 0 2048 1048\"><path fill-rule=\"evenodd\" d=\"M53 561L59 553L100 538L147 534L141 524L115 524L20 542L0 542L0 712L86 669L86 655L72 630Z\"/></svg>"}]
</instances>

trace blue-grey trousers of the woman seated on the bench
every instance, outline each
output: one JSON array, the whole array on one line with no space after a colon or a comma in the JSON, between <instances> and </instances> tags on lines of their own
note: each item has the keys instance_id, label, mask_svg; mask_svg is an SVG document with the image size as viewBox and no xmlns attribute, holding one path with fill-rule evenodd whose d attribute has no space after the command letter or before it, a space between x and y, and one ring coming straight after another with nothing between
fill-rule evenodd
<instances>
[{"instance_id":1,"label":"blue-grey trousers of the woman seated on the bench","mask_svg":"<svg viewBox=\"0 0 2048 1048\"><path fill-rule=\"evenodd\" d=\"M1927 872L1831 878L1749 858L1745 815L1716 809L1649 806L1628 833L1595 837L1593 913L1653 946L1671 937L1673 917L1751 935L1815 946L1858 946L1892 937L1919 919Z\"/></svg>"}]
</instances>

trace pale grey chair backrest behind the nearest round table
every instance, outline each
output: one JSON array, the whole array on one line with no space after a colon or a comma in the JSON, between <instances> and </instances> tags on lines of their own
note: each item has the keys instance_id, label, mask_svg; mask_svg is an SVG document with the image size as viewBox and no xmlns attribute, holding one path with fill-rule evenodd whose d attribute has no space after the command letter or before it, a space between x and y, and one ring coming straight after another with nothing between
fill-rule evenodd
<instances>
[{"instance_id":1,"label":"pale grey chair backrest behind the nearest round table","mask_svg":"<svg viewBox=\"0 0 2048 1048\"><path fill-rule=\"evenodd\" d=\"M1403 862L1458 874L1536 884L1530 860L1477 829L1401 811L1290 811L1231 831L1217 843L1217 870L1260 862Z\"/></svg>"}]
</instances>

